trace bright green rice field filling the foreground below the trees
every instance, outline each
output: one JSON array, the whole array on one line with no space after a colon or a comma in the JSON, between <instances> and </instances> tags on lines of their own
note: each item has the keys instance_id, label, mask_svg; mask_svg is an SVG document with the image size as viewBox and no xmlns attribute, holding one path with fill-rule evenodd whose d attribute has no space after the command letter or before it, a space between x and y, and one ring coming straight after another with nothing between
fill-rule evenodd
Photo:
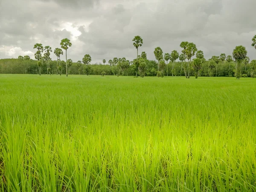
<instances>
[{"instance_id":1,"label":"bright green rice field filling the foreground below the trees","mask_svg":"<svg viewBox=\"0 0 256 192\"><path fill-rule=\"evenodd\" d=\"M0 191L256 191L256 79L0 75Z\"/></svg>"}]
</instances>

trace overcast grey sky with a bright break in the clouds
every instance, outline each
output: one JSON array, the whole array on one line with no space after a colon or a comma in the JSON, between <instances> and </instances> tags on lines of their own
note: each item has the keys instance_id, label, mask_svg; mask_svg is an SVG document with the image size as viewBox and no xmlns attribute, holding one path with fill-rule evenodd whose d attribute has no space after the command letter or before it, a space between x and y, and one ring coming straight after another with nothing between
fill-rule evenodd
<instances>
[{"instance_id":1,"label":"overcast grey sky with a bright break in the clouds","mask_svg":"<svg viewBox=\"0 0 256 192\"><path fill-rule=\"evenodd\" d=\"M256 0L0 0L0 58L34 58L34 44L55 49L69 38L74 62L85 54L92 63L132 60L132 39L140 35L139 54L145 51L148 59L155 59L155 47L180 52L180 42L190 41L207 59L243 45L252 60L255 8Z\"/></svg>"}]
</instances>

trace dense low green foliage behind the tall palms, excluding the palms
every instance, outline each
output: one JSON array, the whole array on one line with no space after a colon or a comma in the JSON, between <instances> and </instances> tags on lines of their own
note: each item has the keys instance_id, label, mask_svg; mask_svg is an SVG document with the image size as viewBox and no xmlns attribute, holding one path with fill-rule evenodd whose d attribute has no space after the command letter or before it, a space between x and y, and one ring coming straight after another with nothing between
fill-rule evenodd
<instances>
[{"instance_id":1,"label":"dense low green foliage behind the tall palms, excluding the palms","mask_svg":"<svg viewBox=\"0 0 256 192\"><path fill-rule=\"evenodd\" d=\"M193 62L193 61L192 61ZM216 76L216 66L217 64L214 63L213 69L209 69L209 62L210 61L204 61L201 64L201 69L199 70L199 76L209 76L211 73L211 76ZM146 70L145 70L145 76L156 76L157 75L157 62L156 61L150 61L145 60L146 64ZM187 65L186 63L182 62L175 62L175 73L174 76L185 76L184 70L181 70L181 64L183 66ZM66 64L64 61L61 61L62 65L62 74L66 73ZM101 73L104 71L106 75L117 75L118 73L118 67L117 65L111 66L109 64L88 64L89 70L88 75L101 75ZM57 61L49 61L49 67L52 69L52 74L57 74ZM170 61L168 64L168 76L172 76L172 67L173 62ZM247 74L248 77L251 77L252 74L252 64L251 62L247 64L247 67L245 69L246 65L244 64L244 61L241 63L241 74ZM86 74L87 65L80 64L73 62L73 64L70 66L70 74ZM166 69L164 69L164 74L166 76ZM193 68L193 65L191 66L191 75L195 75L195 70ZM11 74L39 74L38 71L38 63L35 60L19 60L19 59L0 59L0 73L11 73ZM217 69L217 76L235 76L236 73L236 63L234 61L224 61L223 64L218 66ZM256 70L254 74L256 73ZM43 61L42 64L42 74L47 74L47 63L46 61ZM129 64L128 68L125 71L120 70L120 74L123 76L135 76L136 75L136 67L134 64ZM139 73L140 75L140 73Z\"/></svg>"}]
</instances>

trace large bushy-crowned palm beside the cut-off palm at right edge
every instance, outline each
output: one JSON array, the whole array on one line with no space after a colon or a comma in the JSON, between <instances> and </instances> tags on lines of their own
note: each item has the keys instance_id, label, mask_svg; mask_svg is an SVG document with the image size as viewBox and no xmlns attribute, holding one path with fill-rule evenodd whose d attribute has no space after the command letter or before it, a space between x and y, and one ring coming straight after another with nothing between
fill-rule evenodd
<instances>
[{"instance_id":1,"label":"large bushy-crowned palm beside the cut-off palm at right edge","mask_svg":"<svg viewBox=\"0 0 256 192\"><path fill-rule=\"evenodd\" d=\"M241 61L246 58L247 50L244 46L236 46L233 50L233 58L237 62L237 69L236 69L236 79L240 79L241 77Z\"/></svg>"}]
</instances>

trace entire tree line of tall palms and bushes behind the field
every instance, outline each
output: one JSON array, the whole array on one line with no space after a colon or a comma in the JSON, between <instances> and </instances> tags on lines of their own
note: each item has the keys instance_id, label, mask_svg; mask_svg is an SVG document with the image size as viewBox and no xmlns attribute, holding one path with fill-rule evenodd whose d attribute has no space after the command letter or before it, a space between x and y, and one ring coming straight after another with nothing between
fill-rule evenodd
<instances>
[{"instance_id":1,"label":"entire tree line of tall palms and bushes behind the field","mask_svg":"<svg viewBox=\"0 0 256 192\"><path fill-rule=\"evenodd\" d=\"M233 55L222 53L219 56L212 56L208 61L204 58L204 52L198 50L192 42L183 41L180 44L182 48L179 54L177 50L171 53L163 54L160 47L154 49L156 61L148 60L147 54L141 52L139 55L139 47L143 46L143 39L135 36L133 41L134 47L137 49L137 57L133 61L126 58L113 58L102 60L103 64L91 64L91 56L84 55L82 61L73 63L71 59L67 59L67 49L72 46L69 39L61 40L61 48L56 48L54 54L56 61L52 61L50 54L52 48L50 46L43 47L42 44L35 44L34 49L35 60L30 59L28 55L19 56L18 59L2 59L0 60L0 73L29 73L29 74L49 74L61 75L69 74L85 74L85 75L116 75L116 76L235 76L237 79L241 77L255 77L256 60L250 61L247 57L247 50L244 46L236 46ZM252 38L252 46L256 49L256 35ZM65 52L66 61L61 61L61 55ZM195 57L195 58L193 58ZM107 63L107 64L106 64Z\"/></svg>"}]
</instances>

